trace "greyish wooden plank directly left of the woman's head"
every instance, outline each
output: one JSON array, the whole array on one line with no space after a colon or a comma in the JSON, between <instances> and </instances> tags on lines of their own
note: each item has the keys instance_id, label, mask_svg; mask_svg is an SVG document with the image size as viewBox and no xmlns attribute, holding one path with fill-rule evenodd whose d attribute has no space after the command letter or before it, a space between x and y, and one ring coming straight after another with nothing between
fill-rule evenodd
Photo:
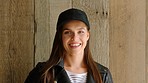
<instances>
[{"instance_id":1,"label":"greyish wooden plank directly left of the woman's head","mask_svg":"<svg viewBox=\"0 0 148 83\"><path fill-rule=\"evenodd\" d=\"M36 0L35 4L35 63L38 63L49 58L58 15L71 7L71 0Z\"/></svg>"}]
</instances>

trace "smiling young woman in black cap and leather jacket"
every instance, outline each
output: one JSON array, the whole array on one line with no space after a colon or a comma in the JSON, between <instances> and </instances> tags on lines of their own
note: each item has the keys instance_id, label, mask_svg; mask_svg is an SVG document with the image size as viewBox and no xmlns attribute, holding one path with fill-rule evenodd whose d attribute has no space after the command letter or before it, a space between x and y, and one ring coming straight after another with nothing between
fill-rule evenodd
<instances>
[{"instance_id":1,"label":"smiling young woman in black cap and leather jacket","mask_svg":"<svg viewBox=\"0 0 148 83\"><path fill-rule=\"evenodd\" d=\"M113 83L108 68L91 56L89 30L84 11L72 8L62 12L49 60L38 63L25 83Z\"/></svg>"}]
</instances>

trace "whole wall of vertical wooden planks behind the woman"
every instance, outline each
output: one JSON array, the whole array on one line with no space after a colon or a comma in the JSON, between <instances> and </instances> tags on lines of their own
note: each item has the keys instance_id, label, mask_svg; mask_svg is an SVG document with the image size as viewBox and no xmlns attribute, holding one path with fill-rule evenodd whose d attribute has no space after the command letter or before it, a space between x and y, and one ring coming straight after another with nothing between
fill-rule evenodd
<instances>
[{"instance_id":1,"label":"whole wall of vertical wooden planks behind the woman","mask_svg":"<svg viewBox=\"0 0 148 83\"><path fill-rule=\"evenodd\" d=\"M93 58L114 83L148 83L146 0L0 0L0 83L23 83L49 58L57 17L84 10L91 25Z\"/></svg>"}]
</instances>

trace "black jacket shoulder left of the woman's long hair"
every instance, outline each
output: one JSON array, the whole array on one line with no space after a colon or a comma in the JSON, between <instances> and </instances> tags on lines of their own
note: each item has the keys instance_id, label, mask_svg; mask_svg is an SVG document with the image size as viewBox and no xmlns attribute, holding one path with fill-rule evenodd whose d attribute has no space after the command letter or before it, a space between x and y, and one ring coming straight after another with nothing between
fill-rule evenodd
<instances>
[{"instance_id":1,"label":"black jacket shoulder left of the woman's long hair","mask_svg":"<svg viewBox=\"0 0 148 83\"><path fill-rule=\"evenodd\" d=\"M27 76L25 83L37 83L37 79L40 79L42 73L41 70L43 69L46 62L39 62L29 73Z\"/></svg>"}]
</instances>

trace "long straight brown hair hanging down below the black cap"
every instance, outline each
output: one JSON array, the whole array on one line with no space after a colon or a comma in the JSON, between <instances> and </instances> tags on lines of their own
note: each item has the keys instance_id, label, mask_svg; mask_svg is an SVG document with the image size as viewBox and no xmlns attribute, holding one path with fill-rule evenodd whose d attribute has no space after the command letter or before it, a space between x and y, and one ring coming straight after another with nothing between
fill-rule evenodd
<instances>
[{"instance_id":1,"label":"long straight brown hair hanging down below the black cap","mask_svg":"<svg viewBox=\"0 0 148 83\"><path fill-rule=\"evenodd\" d=\"M64 47L62 43L62 30L63 27L59 28L55 34L53 47L51 51L50 58L47 60L46 65L44 66L43 70L41 71L43 74L41 76L40 82L42 83L54 83L54 76L53 76L53 66L58 64L59 61L64 57ZM87 30L89 31L89 27ZM92 74L96 83L102 83L102 78L98 67L95 61L92 58L90 49L89 49L89 40L87 45L84 49L84 60L89 68L88 71Z\"/></svg>"}]
</instances>

